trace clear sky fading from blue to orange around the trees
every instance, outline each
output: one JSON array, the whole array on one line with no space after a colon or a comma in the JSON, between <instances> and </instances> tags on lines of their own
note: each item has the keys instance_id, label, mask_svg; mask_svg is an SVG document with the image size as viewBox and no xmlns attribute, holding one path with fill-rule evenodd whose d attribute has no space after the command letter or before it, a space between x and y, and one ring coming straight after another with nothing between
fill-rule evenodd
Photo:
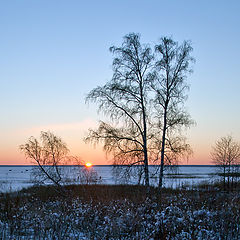
<instances>
[{"instance_id":1,"label":"clear sky fading from blue to orange around the trees","mask_svg":"<svg viewBox=\"0 0 240 240\"><path fill-rule=\"evenodd\" d=\"M111 164L83 142L101 115L87 93L112 76L109 47L123 36L143 43L190 40L196 63L186 108L194 154L181 164L211 164L216 140L240 141L240 1L11 0L0 2L0 165L31 164L19 145L52 131L73 155Z\"/></svg>"}]
</instances>

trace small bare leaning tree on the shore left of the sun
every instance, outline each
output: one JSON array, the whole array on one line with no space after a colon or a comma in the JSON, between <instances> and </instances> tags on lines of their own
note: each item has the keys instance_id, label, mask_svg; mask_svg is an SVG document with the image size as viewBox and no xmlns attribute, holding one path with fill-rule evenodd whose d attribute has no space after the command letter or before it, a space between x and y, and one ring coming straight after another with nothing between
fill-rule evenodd
<instances>
[{"instance_id":1,"label":"small bare leaning tree on the shore left of the sun","mask_svg":"<svg viewBox=\"0 0 240 240\"><path fill-rule=\"evenodd\" d=\"M34 171L42 182L50 180L56 186L61 186L63 179L60 165L66 163L69 150L60 137L51 132L41 132L40 140L32 136L19 148L37 164Z\"/></svg>"}]
</instances>

